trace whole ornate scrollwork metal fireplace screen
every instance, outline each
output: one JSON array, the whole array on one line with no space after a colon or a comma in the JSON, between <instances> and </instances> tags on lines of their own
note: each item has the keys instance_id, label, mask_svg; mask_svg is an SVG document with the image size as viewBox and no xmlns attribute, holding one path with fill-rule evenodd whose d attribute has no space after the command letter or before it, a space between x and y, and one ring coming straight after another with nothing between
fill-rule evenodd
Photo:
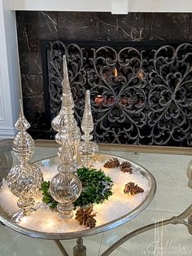
<instances>
[{"instance_id":1,"label":"whole ornate scrollwork metal fireplace screen","mask_svg":"<svg viewBox=\"0 0 192 256\"><path fill-rule=\"evenodd\" d=\"M82 44L81 44L82 45ZM191 146L192 45L120 47L44 42L46 115L60 108L62 55L80 123L89 89L98 143Z\"/></svg>"}]
</instances>

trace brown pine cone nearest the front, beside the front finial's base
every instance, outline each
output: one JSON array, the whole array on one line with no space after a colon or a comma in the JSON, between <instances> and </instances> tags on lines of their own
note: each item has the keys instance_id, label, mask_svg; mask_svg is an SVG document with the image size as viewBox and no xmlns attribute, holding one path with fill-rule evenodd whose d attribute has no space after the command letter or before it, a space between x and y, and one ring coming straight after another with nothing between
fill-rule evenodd
<instances>
[{"instance_id":1,"label":"brown pine cone nearest the front, beside the front finial's base","mask_svg":"<svg viewBox=\"0 0 192 256\"><path fill-rule=\"evenodd\" d=\"M96 216L93 212L93 207L87 207L87 208L81 208L76 211L76 220L80 223L80 225L84 224L85 227L95 227L96 225L96 219L94 217Z\"/></svg>"}]
</instances>

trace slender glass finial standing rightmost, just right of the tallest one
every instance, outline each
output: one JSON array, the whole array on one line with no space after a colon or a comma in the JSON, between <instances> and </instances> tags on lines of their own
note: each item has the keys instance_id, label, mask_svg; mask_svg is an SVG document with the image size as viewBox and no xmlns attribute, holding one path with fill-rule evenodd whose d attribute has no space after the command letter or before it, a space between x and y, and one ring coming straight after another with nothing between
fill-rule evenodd
<instances>
[{"instance_id":1,"label":"slender glass finial standing rightmost, just right of the tallest one","mask_svg":"<svg viewBox=\"0 0 192 256\"><path fill-rule=\"evenodd\" d=\"M81 130L84 132L84 135L81 136L83 140L78 148L81 155L81 164L82 166L89 167L92 166L91 156L98 153L98 144L94 143L94 141L90 141L93 139L93 136L90 135L90 133L94 130L94 120L91 113L89 90L86 90L85 94L85 109L81 122Z\"/></svg>"}]
</instances>

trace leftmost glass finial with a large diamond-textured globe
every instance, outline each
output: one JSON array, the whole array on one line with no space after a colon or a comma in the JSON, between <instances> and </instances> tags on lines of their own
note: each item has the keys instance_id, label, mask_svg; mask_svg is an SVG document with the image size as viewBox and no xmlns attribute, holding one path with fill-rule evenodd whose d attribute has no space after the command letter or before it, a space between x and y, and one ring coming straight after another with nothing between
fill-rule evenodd
<instances>
[{"instance_id":1,"label":"leftmost glass finial with a large diamond-textured globe","mask_svg":"<svg viewBox=\"0 0 192 256\"><path fill-rule=\"evenodd\" d=\"M13 166L7 174L8 187L15 196L19 197L17 205L20 210L12 216L12 220L15 222L19 222L21 217L33 211L33 205L35 204L33 196L41 188L43 180L41 170L37 166L28 163L35 149L34 141L26 131L29 127L20 100L20 117L15 123L15 128L19 132L15 136L12 146L20 164Z\"/></svg>"}]
</instances>

